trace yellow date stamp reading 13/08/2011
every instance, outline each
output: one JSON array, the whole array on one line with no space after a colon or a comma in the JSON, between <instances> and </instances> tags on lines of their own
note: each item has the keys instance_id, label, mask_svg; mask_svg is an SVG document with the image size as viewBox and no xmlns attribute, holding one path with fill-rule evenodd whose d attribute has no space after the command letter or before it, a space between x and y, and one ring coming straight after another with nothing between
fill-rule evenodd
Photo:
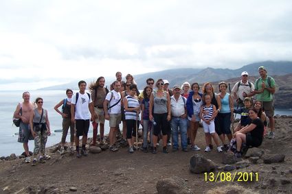
<instances>
[{"instance_id":1,"label":"yellow date stamp reading 13/08/2011","mask_svg":"<svg viewBox=\"0 0 292 194\"><path fill-rule=\"evenodd\" d=\"M254 172L205 172L205 182L258 182L258 173Z\"/></svg>"}]
</instances>

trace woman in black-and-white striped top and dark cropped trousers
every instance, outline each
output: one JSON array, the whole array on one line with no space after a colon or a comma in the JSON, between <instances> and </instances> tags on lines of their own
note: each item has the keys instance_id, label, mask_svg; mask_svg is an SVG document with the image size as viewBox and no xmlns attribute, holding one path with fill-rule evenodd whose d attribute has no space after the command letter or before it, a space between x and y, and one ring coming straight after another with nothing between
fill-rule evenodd
<instances>
[{"instance_id":1,"label":"woman in black-and-white striped top and dark cropped trousers","mask_svg":"<svg viewBox=\"0 0 292 194\"><path fill-rule=\"evenodd\" d=\"M136 137L136 128L139 124L140 105L138 97L135 95L137 91L137 85L131 84L130 92L124 97L124 110L126 117L126 138L128 141L128 151L132 154L134 152L133 144Z\"/></svg>"}]
</instances>

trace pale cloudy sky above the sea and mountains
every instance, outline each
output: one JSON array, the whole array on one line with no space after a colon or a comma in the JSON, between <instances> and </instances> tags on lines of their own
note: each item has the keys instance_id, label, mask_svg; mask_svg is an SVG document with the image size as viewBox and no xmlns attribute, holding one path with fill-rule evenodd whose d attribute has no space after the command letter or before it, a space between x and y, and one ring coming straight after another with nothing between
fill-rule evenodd
<instances>
[{"instance_id":1,"label":"pale cloudy sky above the sea and mountains","mask_svg":"<svg viewBox=\"0 0 292 194\"><path fill-rule=\"evenodd\" d=\"M292 1L0 1L0 90L292 60Z\"/></svg>"}]
</instances>

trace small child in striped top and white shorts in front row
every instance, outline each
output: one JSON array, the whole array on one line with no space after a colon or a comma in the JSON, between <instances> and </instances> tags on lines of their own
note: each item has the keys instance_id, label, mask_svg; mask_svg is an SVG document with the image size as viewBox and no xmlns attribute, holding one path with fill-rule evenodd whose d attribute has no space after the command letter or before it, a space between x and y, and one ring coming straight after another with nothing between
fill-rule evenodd
<instances>
[{"instance_id":1,"label":"small child in striped top and white shorts in front row","mask_svg":"<svg viewBox=\"0 0 292 194\"><path fill-rule=\"evenodd\" d=\"M216 111L216 106L211 104L211 96L210 95L204 95L205 98L205 105L201 107L200 110L200 117L203 120L203 128L205 132L205 140L207 143L207 134L211 134L214 142L217 145L217 151L222 152L221 146L219 145L219 137L218 134L215 132L215 123L214 123L214 112ZM205 149L205 152L211 151L209 145L207 144L207 147Z\"/></svg>"}]
</instances>

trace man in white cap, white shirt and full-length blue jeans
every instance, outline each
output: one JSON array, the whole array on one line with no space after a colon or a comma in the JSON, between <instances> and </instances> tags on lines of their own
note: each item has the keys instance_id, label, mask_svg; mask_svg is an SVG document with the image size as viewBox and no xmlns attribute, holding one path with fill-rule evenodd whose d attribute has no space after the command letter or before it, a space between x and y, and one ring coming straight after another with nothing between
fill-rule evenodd
<instances>
[{"instance_id":1,"label":"man in white cap, white shirt and full-length blue jeans","mask_svg":"<svg viewBox=\"0 0 292 194\"><path fill-rule=\"evenodd\" d=\"M170 125L172 128L172 151L179 149L179 131L181 132L181 148L183 151L188 151L188 139L187 139L187 110L186 101L187 99L181 96L181 87L175 85L173 87L172 97L170 97L170 108L171 108L171 121ZM179 128L179 129L178 129Z\"/></svg>"}]
</instances>

